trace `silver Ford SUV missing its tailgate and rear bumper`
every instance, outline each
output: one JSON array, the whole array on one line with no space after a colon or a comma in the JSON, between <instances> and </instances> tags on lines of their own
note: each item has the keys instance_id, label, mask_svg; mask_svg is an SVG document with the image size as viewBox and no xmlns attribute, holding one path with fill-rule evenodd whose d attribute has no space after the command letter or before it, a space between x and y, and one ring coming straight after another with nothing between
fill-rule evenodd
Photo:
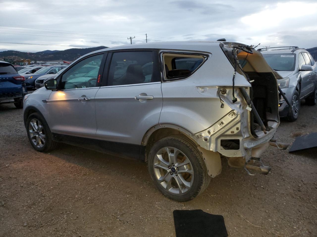
<instances>
[{"instance_id":1,"label":"silver Ford SUV missing its tailgate and rear bumper","mask_svg":"<svg viewBox=\"0 0 317 237\"><path fill-rule=\"evenodd\" d=\"M220 156L269 172L253 162L276 146L276 79L260 52L238 43L107 48L25 96L24 123L37 151L64 142L146 161L165 196L188 201L221 173Z\"/></svg>"}]
</instances>

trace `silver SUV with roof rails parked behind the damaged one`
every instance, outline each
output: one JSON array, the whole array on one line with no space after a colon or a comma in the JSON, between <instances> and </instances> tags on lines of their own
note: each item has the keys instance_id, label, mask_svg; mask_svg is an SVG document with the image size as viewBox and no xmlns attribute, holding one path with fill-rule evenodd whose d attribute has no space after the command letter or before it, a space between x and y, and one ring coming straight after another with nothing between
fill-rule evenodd
<instances>
[{"instance_id":1,"label":"silver SUV with roof rails parked behind the damaged one","mask_svg":"<svg viewBox=\"0 0 317 237\"><path fill-rule=\"evenodd\" d=\"M305 99L307 105L317 102L317 66L314 58L297 46L262 48L258 51L268 65L283 77L278 84L292 107L280 96L280 117L295 121L299 116L301 100Z\"/></svg>"}]
</instances>

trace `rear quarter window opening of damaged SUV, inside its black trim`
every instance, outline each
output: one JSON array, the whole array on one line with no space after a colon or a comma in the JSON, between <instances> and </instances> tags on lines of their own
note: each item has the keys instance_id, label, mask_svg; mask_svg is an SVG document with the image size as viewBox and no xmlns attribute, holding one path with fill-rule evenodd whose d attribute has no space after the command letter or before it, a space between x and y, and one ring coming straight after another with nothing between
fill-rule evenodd
<instances>
[{"instance_id":1,"label":"rear quarter window opening of damaged SUV, inside its black trim","mask_svg":"<svg viewBox=\"0 0 317 237\"><path fill-rule=\"evenodd\" d=\"M166 80L190 76L207 59L204 55L164 53L164 76Z\"/></svg>"}]
</instances>

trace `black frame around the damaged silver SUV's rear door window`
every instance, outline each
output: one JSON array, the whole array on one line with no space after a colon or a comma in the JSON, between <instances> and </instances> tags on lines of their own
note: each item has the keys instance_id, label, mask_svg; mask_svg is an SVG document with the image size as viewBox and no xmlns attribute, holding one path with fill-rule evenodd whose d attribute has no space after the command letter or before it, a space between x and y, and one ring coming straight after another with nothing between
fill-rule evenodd
<instances>
[{"instance_id":1,"label":"black frame around the damaged silver SUV's rear door window","mask_svg":"<svg viewBox=\"0 0 317 237\"><path fill-rule=\"evenodd\" d=\"M157 82L147 82L147 83L139 83L139 84L124 84L124 85L108 85L108 77L109 77L109 71L110 71L110 64L111 60L113 57L113 53L116 52L152 52L153 54L153 64L158 65L158 67L153 67L153 75L157 75L158 77L160 76L160 60L159 60L159 50L158 49L119 49L119 50L109 50L107 51L109 53L109 56L107 57L105 68L103 71L103 78L102 78L102 83L101 86L102 88L104 87L124 87L124 86L134 86L134 85L144 85L144 84L154 84L158 82L162 82L162 77L159 78L160 80ZM158 70L158 71L157 71Z\"/></svg>"}]
</instances>

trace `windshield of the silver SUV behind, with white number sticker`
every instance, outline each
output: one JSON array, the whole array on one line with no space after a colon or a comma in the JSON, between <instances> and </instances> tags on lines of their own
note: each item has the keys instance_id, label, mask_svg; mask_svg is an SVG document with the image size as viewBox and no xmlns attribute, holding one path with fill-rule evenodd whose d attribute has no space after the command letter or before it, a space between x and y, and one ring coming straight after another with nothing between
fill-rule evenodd
<instances>
[{"instance_id":1,"label":"windshield of the silver SUV behind, with white number sticker","mask_svg":"<svg viewBox=\"0 0 317 237\"><path fill-rule=\"evenodd\" d=\"M295 69L294 53L263 54L263 57L275 71L294 71Z\"/></svg>"}]
</instances>

